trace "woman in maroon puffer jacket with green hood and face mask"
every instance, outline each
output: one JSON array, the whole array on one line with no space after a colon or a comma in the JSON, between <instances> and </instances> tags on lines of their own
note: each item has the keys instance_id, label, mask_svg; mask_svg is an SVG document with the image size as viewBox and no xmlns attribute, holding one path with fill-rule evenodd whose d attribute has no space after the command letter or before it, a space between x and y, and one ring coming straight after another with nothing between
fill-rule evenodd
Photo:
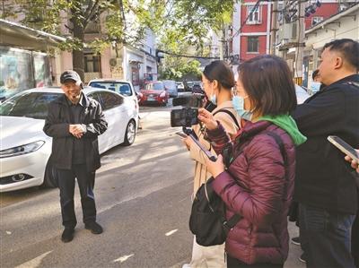
<instances>
[{"instance_id":1,"label":"woman in maroon puffer jacket with green hood and face mask","mask_svg":"<svg viewBox=\"0 0 359 268\"><path fill-rule=\"evenodd\" d=\"M294 84L283 59L258 56L240 65L236 86L233 107L245 120L232 145L210 113L200 109L198 116L218 155L229 144L232 148L228 169L222 155L215 162L206 160L215 177L212 186L226 204L227 219L234 213L242 216L225 242L227 267L283 267L294 146L306 140L289 116L296 106Z\"/></svg>"}]
</instances>

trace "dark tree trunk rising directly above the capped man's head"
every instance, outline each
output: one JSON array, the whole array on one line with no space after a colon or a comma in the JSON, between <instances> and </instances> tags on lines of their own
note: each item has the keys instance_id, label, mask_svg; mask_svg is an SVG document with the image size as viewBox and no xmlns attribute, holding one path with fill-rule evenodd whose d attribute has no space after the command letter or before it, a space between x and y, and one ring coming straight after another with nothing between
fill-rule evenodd
<instances>
[{"instance_id":1,"label":"dark tree trunk rising directly above the capped man's head","mask_svg":"<svg viewBox=\"0 0 359 268\"><path fill-rule=\"evenodd\" d=\"M84 29L82 23L74 20L74 38L84 41ZM73 68L77 72L81 80L84 81L84 61L83 61L83 46L80 50L73 50Z\"/></svg>"}]
</instances>

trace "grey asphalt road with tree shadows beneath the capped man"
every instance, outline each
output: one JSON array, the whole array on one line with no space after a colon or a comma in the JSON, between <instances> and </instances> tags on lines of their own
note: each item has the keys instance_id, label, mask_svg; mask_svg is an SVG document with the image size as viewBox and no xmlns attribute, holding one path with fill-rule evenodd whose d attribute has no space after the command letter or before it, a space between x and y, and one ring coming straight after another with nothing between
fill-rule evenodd
<instances>
[{"instance_id":1,"label":"grey asphalt road with tree shadows beneath the capped man","mask_svg":"<svg viewBox=\"0 0 359 268\"><path fill-rule=\"evenodd\" d=\"M102 155L95 196L101 235L83 229L79 195L74 240L60 240L57 189L0 194L1 267L181 267L191 255L188 230L193 164L170 125L170 108L142 108L143 129L129 147ZM76 192L78 192L76 190ZM292 236L297 229L290 225ZM304 267L291 245L285 267Z\"/></svg>"}]
</instances>

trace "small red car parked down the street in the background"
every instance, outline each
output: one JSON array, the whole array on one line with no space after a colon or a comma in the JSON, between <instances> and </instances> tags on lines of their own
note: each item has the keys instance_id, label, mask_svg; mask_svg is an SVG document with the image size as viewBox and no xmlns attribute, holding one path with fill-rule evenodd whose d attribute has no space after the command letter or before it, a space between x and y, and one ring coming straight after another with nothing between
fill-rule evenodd
<instances>
[{"instance_id":1,"label":"small red car parked down the street in the background","mask_svg":"<svg viewBox=\"0 0 359 268\"><path fill-rule=\"evenodd\" d=\"M166 105L169 99L169 93L161 81L146 83L141 93L140 104L157 103Z\"/></svg>"}]
</instances>

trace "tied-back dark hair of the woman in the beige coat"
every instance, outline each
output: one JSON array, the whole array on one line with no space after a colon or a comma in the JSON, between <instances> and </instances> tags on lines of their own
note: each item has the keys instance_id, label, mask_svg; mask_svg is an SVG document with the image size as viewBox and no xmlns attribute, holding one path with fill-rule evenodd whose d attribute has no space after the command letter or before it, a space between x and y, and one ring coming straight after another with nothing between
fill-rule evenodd
<instances>
[{"instance_id":1,"label":"tied-back dark hair of the woman in the beige coat","mask_svg":"<svg viewBox=\"0 0 359 268\"><path fill-rule=\"evenodd\" d=\"M232 68L223 60L215 60L206 65L203 74L211 82L216 80L220 84L220 88L231 90L235 85Z\"/></svg>"}]
</instances>

